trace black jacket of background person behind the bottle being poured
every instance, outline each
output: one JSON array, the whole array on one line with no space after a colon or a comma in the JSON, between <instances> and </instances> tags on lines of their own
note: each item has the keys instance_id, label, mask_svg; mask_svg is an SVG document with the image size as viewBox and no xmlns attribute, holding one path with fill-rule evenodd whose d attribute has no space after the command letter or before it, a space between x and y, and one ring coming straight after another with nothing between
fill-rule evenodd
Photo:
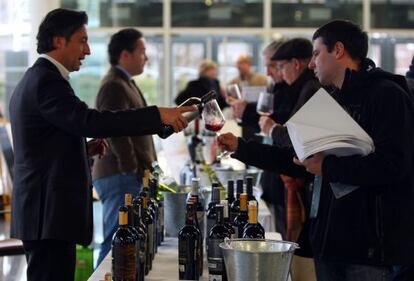
<instances>
[{"instance_id":1,"label":"black jacket of background person behind the bottle being poured","mask_svg":"<svg viewBox=\"0 0 414 281\"><path fill-rule=\"evenodd\" d=\"M211 90L217 92L217 102L220 108L223 109L226 107L227 103L221 95L220 82L217 79L210 80L206 77L199 77L197 80L188 82L185 89L181 91L175 98L175 104L180 105L191 97L201 98Z\"/></svg>"}]
</instances>

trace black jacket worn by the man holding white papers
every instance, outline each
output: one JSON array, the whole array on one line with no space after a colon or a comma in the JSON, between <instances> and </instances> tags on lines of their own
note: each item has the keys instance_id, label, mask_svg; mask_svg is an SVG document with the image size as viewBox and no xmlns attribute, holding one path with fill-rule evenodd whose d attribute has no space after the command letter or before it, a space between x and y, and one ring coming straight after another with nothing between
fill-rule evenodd
<instances>
[{"instance_id":1,"label":"black jacket worn by the man holding white papers","mask_svg":"<svg viewBox=\"0 0 414 281\"><path fill-rule=\"evenodd\" d=\"M413 264L414 106L405 80L366 60L360 71L347 72L342 89L333 95L371 136L375 151L367 156L325 158L318 217L311 220L315 258ZM291 176L306 175L292 163L292 150L242 140L239 145L235 157L243 161ZM360 188L335 199L329 182Z\"/></svg>"}]
</instances>

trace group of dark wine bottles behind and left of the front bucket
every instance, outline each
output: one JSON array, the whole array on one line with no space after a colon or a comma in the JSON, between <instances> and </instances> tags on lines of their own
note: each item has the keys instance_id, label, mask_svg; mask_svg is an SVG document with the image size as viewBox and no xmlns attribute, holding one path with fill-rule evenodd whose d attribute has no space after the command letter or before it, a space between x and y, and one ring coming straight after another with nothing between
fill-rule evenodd
<instances>
[{"instance_id":1,"label":"group of dark wine bottles behind and left of the front bucket","mask_svg":"<svg viewBox=\"0 0 414 281\"><path fill-rule=\"evenodd\" d=\"M180 280L199 280L203 273L203 242L206 243L209 280L227 280L222 250L225 238L264 239L265 231L258 222L258 202L253 196L253 178L228 182L228 196L220 201L218 184L212 186L212 199L207 208L206 234L204 208L199 198L199 179L192 180L191 196L187 200L186 221L178 233L178 275ZM248 203L249 202L249 203ZM247 203L249 207L247 208ZM231 216L233 215L233 217Z\"/></svg>"}]
</instances>

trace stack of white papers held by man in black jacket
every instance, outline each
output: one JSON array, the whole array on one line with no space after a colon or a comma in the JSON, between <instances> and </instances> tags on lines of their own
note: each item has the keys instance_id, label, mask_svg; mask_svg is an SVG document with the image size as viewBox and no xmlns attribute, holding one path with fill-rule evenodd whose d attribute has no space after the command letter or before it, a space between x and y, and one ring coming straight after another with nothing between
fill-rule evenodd
<instances>
[{"instance_id":1,"label":"stack of white papers held by man in black jacket","mask_svg":"<svg viewBox=\"0 0 414 281\"><path fill-rule=\"evenodd\" d=\"M301 161L317 152L347 156L374 151L371 137L323 88L286 122L286 126Z\"/></svg>"}]
</instances>

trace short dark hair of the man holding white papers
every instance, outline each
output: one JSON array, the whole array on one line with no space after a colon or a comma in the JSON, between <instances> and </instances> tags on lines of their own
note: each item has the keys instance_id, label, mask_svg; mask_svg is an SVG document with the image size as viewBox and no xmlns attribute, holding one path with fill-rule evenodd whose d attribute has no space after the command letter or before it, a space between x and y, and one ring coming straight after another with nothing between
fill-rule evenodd
<instances>
[{"instance_id":1,"label":"short dark hair of the man holding white papers","mask_svg":"<svg viewBox=\"0 0 414 281\"><path fill-rule=\"evenodd\" d=\"M335 44L341 42L351 58L363 60L367 57L368 35L350 21L334 20L321 26L313 34L312 40L318 38L322 39L328 52L332 52Z\"/></svg>"}]
</instances>

